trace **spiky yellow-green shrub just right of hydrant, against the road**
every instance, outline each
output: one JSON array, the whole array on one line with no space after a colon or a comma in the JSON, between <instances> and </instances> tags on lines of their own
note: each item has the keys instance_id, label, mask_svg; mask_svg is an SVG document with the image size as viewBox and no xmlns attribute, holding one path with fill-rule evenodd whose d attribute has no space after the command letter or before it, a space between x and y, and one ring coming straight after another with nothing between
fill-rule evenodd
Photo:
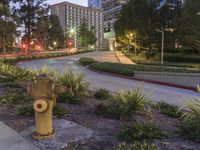
<instances>
[{"instance_id":1,"label":"spiky yellow-green shrub just right of hydrant, against the road","mask_svg":"<svg viewBox=\"0 0 200 150\"><path fill-rule=\"evenodd\" d=\"M89 87L89 83L84 81L83 74L75 74L71 70L61 76L60 83L67 87L71 95L77 96L86 95Z\"/></svg>"}]
</instances>

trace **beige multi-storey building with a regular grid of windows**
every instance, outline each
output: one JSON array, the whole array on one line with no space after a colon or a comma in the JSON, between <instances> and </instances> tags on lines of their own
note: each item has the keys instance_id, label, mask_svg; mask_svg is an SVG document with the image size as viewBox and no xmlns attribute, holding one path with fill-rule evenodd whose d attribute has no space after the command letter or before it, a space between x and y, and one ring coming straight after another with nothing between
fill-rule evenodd
<instances>
[{"instance_id":1,"label":"beige multi-storey building with a regular grid of windows","mask_svg":"<svg viewBox=\"0 0 200 150\"><path fill-rule=\"evenodd\" d=\"M81 22L86 20L88 28L95 30L95 36L97 38L96 48L102 48L103 11L101 9L62 2L51 5L51 13L58 16L65 35L70 35L74 39L75 47L78 47L77 30Z\"/></svg>"}]
</instances>

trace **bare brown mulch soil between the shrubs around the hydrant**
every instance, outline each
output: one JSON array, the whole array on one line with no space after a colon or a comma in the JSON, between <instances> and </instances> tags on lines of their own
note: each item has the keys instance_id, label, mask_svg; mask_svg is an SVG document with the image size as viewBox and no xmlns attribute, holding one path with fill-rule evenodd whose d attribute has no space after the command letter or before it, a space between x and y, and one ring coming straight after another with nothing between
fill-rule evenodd
<instances>
[{"instance_id":1,"label":"bare brown mulch soil between the shrubs around the hydrant","mask_svg":"<svg viewBox=\"0 0 200 150\"><path fill-rule=\"evenodd\" d=\"M2 89L3 87L0 86L0 91ZM95 114L95 108L101 103L103 103L102 100L85 98L83 105L61 104L63 108L69 111L69 114L62 117L62 119L64 118L90 128L105 137L105 140L102 142L88 141L87 143L71 143L71 147L79 150L109 150L120 143L116 135L123 121L97 116ZM31 103L27 105L31 105ZM17 116L16 110L18 107L21 107L21 105L0 104L0 121L17 132L21 132L27 127L34 125L34 117ZM137 118L140 121L147 119L144 116L138 116ZM200 144L183 140L176 135L174 124L177 122L177 119L167 117L158 110L154 110L152 120L169 133L167 138L153 141L161 150L200 150ZM69 149L69 147L66 149Z\"/></svg>"}]
</instances>

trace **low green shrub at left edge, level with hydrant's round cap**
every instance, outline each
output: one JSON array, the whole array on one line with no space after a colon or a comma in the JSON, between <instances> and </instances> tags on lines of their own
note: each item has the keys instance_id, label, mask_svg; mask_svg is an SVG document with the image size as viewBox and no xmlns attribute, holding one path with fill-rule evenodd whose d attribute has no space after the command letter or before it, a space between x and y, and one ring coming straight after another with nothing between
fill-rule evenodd
<instances>
[{"instance_id":1,"label":"low green shrub at left edge, level with hydrant's round cap","mask_svg":"<svg viewBox=\"0 0 200 150\"><path fill-rule=\"evenodd\" d=\"M23 104L30 101L32 98L28 95L6 95L0 97L0 102L4 104Z\"/></svg>"}]
</instances>

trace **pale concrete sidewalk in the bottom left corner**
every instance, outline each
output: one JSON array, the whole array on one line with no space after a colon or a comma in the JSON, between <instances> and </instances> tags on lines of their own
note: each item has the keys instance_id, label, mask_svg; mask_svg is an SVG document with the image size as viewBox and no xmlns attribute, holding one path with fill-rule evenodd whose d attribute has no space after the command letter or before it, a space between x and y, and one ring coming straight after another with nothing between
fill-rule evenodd
<instances>
[{"instance_id":1,"label":"pale concrete sidewalk in the bottom left corner","mask_svg":"<svg viewBox=\"0 0 200 150\"><path fill-rule=\"evenodd\" d=\"M0 121L0 150L39 150Z\"/></svg>"}]
</instances>

